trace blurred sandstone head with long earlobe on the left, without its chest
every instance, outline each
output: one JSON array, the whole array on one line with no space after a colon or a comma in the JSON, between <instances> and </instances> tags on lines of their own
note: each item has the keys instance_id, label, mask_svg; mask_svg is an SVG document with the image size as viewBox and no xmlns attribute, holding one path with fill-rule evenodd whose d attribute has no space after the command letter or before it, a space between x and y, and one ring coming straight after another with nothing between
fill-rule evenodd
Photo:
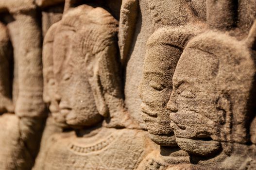
<instances>
[{"instance_id":1,"label":"blurred sandstone head with long earlobe on the left, without its chest","mask_svg":"<svg viewBox=\"0 0 256 170\"><path fill-rule=\"evenodd\" d=\"M83 10L92 12L85 13ZM91 16L94 13L105 20L92 22L96 20ZM74 19L79 15L80 20ZM85 19L83 16L89 17ZM87 27L84 27L84 24ZM105 26L103 25L102 29L95 29L100 24ZM103 8L94 9L85 5L70 10L60 22L51 27L44 43L45 101L50 102L46 99L48 86L55 84L58 88L49 92L54 92L49 99L52 116L57 122L70 126L90 126L100 122L103 117L108 117L109 113L112 117L111 123L115 124L113 126L122 127L122 123L129 123L126 120L128 118L125 116L127 113L123 107L120 89L115 44L117 25L118 22L106 14ZM93 34L88 35L88 32ZM102 38L97 38L98 36ZM70 43L63 42L63 37L67 37ZM58 48L52 49L55 44ZM71 86L73 82L77 82L77 85ZM80 89L86 90L81 93ZM115 107L109 103L110 101L115 103ZM123 122L121 119L114 122L118 117L123 119Z\"/></svg>"}]
</instances>

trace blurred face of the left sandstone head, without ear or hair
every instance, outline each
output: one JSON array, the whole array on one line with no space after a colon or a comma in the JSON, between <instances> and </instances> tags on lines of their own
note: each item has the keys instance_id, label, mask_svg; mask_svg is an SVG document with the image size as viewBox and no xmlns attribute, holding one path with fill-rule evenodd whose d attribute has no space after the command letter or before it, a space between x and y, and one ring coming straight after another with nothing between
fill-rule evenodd
<instances>
[{"instance_id":1,"label":"blurred face of the left sandstone head, without ear or hair","mask_svg":"<svg viewBox=\"0 0 256 170\"><path fill-rule=\"evenodd\" d=\"M58 112L52 115L60 123L91 126L101 121L102 117L97 111L86 76L85 57L81 56L83 48L80 46L82 43L79 42L79 35L62 26L54 36L53 72Z\"/></svg>"}]
</instances>

